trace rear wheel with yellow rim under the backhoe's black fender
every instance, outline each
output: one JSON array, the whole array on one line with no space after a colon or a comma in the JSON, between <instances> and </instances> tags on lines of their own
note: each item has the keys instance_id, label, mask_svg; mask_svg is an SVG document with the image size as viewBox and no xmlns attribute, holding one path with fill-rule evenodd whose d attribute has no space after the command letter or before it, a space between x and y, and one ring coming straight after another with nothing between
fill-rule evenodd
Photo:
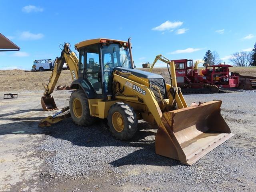
<instances>
[{"instance_id":1,"label":"rear wheel with yellow rim under the backhoe's black fender","mask_svg":"<svg viewBox=\"0 0 256 192\"><path fill-rule=\"evenodd\" d=\"M88 98L82 89L77 89L71 94L69 109L75 124L79 126L94 124L96 117L90 115Z\"/></svg>"}]
</instances>

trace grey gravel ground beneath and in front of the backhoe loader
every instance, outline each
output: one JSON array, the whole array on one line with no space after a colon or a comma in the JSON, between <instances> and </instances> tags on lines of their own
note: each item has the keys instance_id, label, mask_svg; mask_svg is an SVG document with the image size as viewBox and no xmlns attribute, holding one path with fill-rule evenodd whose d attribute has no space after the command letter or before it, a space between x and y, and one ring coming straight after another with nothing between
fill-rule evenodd
<instances>
[{"instance_id":1,"label":"grey gravel ground beneath and in front of the backhoe loader","mask_svg":"<svg viewBox=\"0 0 256 192\"><path fill-rule=\"evenodd\" d=\"M155 154L156 129L139 122L129 141L114 139L104 121L90 127L66 119L50 128L38 150L42 189L56 191L254 191L256 93L186 95L188 104L223 100L235 134L192 166Z\"/></svg>"}]
</instances>

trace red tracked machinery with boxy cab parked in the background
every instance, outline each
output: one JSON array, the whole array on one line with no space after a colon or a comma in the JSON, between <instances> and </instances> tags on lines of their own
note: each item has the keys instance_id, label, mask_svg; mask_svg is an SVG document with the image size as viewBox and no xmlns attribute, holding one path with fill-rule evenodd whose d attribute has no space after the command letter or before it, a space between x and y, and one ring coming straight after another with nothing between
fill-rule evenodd
<instances>
[{"instance_id":1,"label":"red tracked machinery with boxy cab parked in the background","mask_svg":"<svg viewBox=\"0 0 256 192\"><path fill-rule=\"evenodd\" d=\"M219 88L236 88L239 77L231 76L231 65L219 64L209 66L205 64L204 70L198 70L199 61L193 66L193 60L172 60L175 63L178 86L187 93L217 93Z\"/></svg>"}]
</instances>

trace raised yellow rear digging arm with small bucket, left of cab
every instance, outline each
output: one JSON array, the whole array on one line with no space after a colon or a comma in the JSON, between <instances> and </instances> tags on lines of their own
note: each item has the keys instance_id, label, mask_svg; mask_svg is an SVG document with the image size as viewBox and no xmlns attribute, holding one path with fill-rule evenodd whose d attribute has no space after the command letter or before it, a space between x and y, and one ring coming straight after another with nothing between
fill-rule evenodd
<instances>
[{"instance_id":1,"label":"raised yellow rear digging arm with small bucket, left of cab","mask_svg":"<svg viewBox=\"0 0 256 192\"><path fill-rule=\"evenodd\" d=\"M76 57L76 54L70 50L69 46L69 43L64 44L60 57L57 57L55 59L54 70L52 71L48 83L43 84L44 96L42 96L41 98L41 104L44 110L48 111L58 109L51 94L54 91L54 88L58 82L58 79L62 72L62 66L65 62L69 66L72 80L74 81L78 79L78 58Z\"/></svg>"}]
</instances>

